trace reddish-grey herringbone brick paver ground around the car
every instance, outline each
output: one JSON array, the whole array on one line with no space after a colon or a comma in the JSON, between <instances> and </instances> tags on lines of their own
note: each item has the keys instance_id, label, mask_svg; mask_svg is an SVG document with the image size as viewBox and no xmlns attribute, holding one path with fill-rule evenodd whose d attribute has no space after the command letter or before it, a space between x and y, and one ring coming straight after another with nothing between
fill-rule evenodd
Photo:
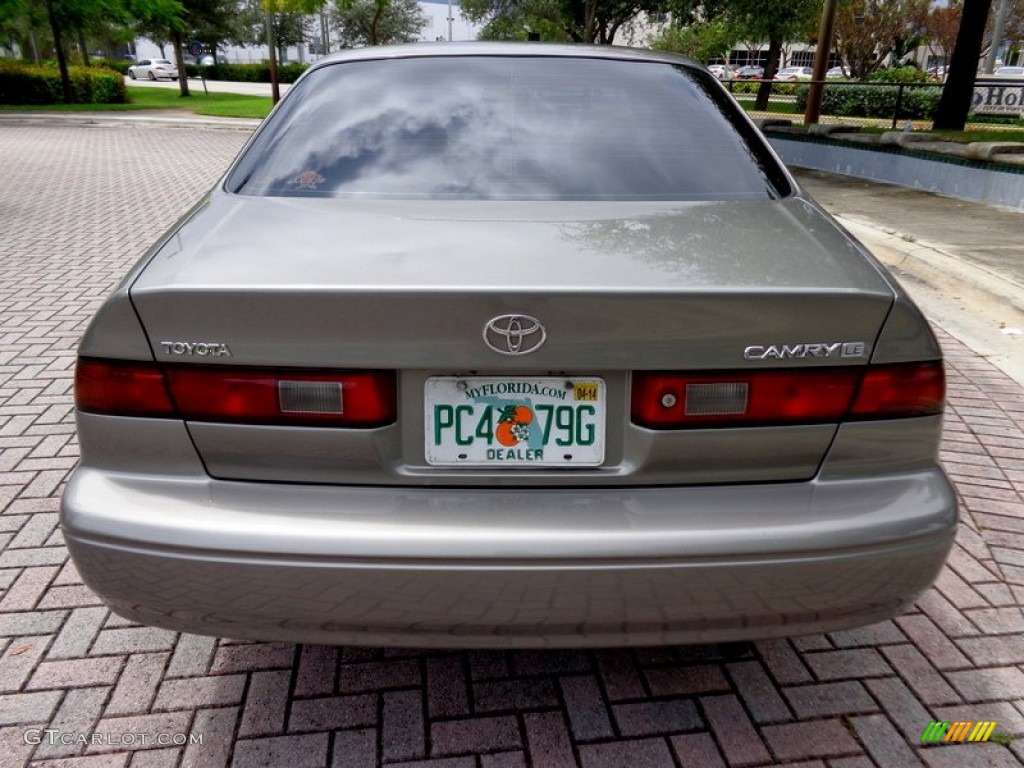
<instances>
[{"instance_id":1,"label":"reddish-grey herringbone brick paver ground around the car","mask_svg":"<svg viewBox=\"0 0 1024 768\"><path fill-rule=\"evenodd\" d=\"M0 126L0 766L1021 765L1024 397L945 335L964 521L895 621L724 655L245 644L112 615L56 527L75 345L246 136ZM995 720L1016 740L922 748L933 719ZM94 733L123 743L76 743Z\"/></svg>"}]
</instances>

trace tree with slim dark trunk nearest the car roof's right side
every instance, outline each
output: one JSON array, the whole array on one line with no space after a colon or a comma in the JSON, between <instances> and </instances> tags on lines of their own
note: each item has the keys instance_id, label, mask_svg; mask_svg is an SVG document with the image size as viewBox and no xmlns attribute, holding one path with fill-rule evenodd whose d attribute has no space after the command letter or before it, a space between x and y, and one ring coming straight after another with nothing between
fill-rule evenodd
<instances>
[{"instance_id":1,"label":"tree with slim dark trunk nearest the car roof's right side","mask_svg":"<svg viewBox=\"0 0 1024 768\"><path fill-rule=\"evenodd\" d=\"M768 41L764 79L754 103L755 109L766 110L782 45L812 34L821 4L819 0L729 0L726 12L743 38Z\"/></svg>"}]
</instances>

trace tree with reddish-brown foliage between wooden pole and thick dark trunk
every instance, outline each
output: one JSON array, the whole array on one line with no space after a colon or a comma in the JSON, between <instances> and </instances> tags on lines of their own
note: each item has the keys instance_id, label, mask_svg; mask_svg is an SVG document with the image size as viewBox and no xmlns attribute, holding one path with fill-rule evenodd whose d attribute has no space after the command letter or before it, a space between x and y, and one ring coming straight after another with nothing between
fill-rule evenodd
<instances>
[{"instance_id":1,"label":"tree with reddish-brown foliage between wooden pole and thick dark trunk","mask_svg":"<svg viewBox=\"0 0 1024 768\"><path fill-rule=\"evenodd\" d=\"M836 50L854 78L866 79L893 53L903 58L922 40L930 0L842 0Z\"/></svg>"}]
</instances>

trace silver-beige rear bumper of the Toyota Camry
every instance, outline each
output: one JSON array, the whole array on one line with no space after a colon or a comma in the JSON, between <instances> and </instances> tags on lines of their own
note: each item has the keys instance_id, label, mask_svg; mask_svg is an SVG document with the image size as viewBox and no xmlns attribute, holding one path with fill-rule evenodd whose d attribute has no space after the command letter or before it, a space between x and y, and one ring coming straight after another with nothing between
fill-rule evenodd
<instances>
[{"instance_id":1,"label":"silver-beige rear bumper of the Toyota Camry","mask_svg":"<svg viewBox=\"0 0 1024 768\"><path fill-rule=\"evenodd\" d=\"M952 545L939 469L594 489L282 485L78 469L61 524L118 613L331 644L716 642L899 612Z\"/></svg>"}]
</instances>

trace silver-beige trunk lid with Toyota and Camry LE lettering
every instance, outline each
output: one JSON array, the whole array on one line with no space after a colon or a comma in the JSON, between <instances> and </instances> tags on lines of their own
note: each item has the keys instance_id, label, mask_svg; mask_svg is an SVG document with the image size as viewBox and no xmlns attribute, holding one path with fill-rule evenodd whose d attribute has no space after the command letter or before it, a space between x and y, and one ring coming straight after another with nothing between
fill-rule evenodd
<instances>
[{"instance_id":1,"label":"silver-beige trunk lid with Toyota and Camry LE lettering","mask_svg":"<svg viewBox=\"0 0 1024 768\"><path fill-rule=\"evenodd\" d=\"M245 232L240 238L238 232ZM813 204L366 202L217 195L131 288L168 366L396 372L372 429L189 421L211 473L309 482L666 484L803 479L835 423L657 431L636 371L860 367L892 304ZM545 343L496 352L488 322ZM500 350L499 350L500 351ZM600 463L438 466L431 380L604 386ZM475 379L474 377L489 377Z\"/></svg>"}]
</instances>

